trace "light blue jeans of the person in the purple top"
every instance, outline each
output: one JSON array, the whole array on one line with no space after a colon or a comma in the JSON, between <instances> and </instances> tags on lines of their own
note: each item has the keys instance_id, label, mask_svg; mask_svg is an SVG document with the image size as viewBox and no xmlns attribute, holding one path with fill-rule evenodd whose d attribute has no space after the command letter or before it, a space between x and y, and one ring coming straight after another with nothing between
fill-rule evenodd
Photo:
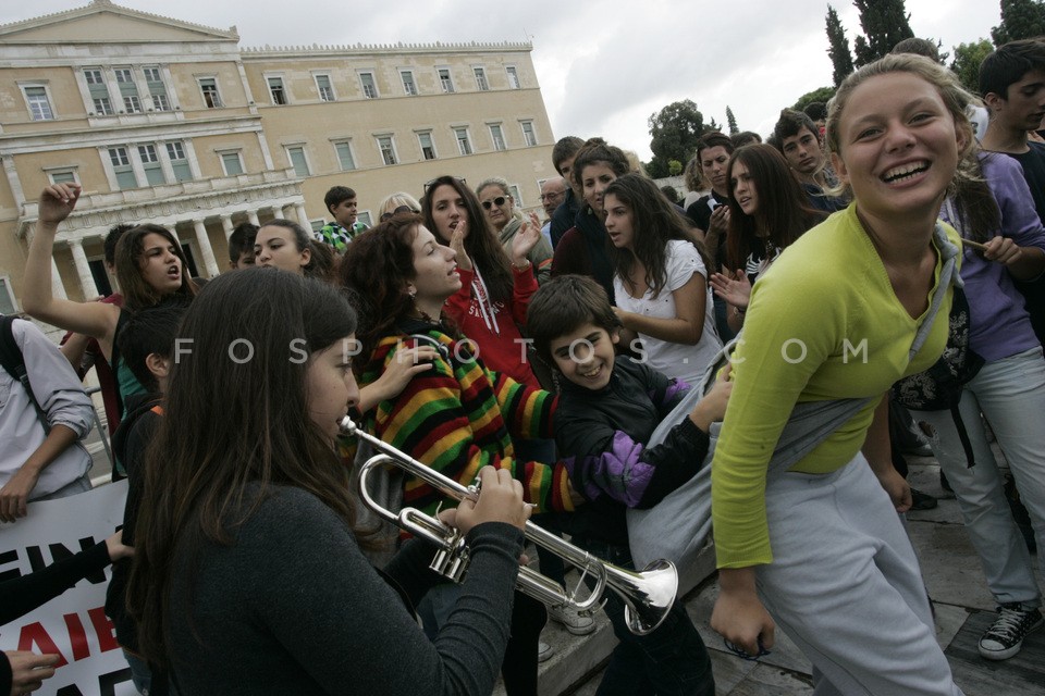
<instances>
[{"instance_id":1,"label":"light blue jeans of the person in the purple top","mask_svg":"<svg viewBox=\"0 0 1045 696\"><path fill-rule=\"evenodd\" d=\"M1012 520L1004 482L980 420L981 411L1005 453L1031 515L1038 549L1045 548L1045 359L1033 348L988 362L964 387L959 403L975 465L969 468L949 411L914 411L932 426L930 446L958 498L987 586L1000 602L1041 605L1031 557ZM1045 554L1038 554L1045 571Z\"/></svg>"}]
</instances>

